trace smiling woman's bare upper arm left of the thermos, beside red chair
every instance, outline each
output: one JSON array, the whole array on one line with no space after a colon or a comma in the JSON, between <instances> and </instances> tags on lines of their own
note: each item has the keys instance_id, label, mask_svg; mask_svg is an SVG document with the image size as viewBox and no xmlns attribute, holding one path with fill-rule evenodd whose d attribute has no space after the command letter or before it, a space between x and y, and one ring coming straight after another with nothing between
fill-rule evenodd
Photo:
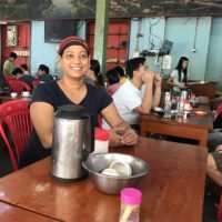
<instances>
[{"instance_id":1,"label":"smiling woman's bare upper arm left of the thermos, beside red chair","mask_svg":"<svg viewBox=\"0 0 222 222\"><path fill-rule=\"evenodd\" d=\"M33 102L30 107L33 127L46 149L52 148L53 113L53 107L47 102Z\"/></svg>"}]
</instances>

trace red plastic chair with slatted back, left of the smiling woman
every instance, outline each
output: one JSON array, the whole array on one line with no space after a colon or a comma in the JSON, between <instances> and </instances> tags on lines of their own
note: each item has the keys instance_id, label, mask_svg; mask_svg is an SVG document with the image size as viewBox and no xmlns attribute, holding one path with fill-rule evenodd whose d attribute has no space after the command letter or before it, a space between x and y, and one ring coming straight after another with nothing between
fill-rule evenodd
<instances>
[{"instance_id":1,"label":"red plastic chair with slatted back, left of the smiling woman","mask_svg":"<svg viewBox=\"0 0 222 222\"><path fill-rule=\"evenodd\" d=\"M18 161L21 152L27 145L32 130L29 107L27 100L16 100L0 104L0 134L11 158L13 171L18 170ZM10 133L16 149L16 155L11 142L7 137Z\"/></svg>"}]
</instances>

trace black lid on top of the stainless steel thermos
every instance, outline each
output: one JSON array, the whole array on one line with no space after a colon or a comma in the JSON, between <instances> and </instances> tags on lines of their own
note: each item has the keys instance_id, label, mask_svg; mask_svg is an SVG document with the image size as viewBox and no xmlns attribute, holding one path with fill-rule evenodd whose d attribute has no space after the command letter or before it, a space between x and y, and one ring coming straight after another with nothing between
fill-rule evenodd
<instances>
[{"instance_id":1,"label":"black lid on top of the stainless steel thermos","mask_svg":"<svg viewBox=\"0 0 222 222\"><path fill-rule=\"evenodd\" d=\"M54 117L61 118L61 119L68 119L68 120L84 119L85 115L83 115L83 110L84 110L83 105L65 104L59 108Z\"/></svg>"}]
</instances>

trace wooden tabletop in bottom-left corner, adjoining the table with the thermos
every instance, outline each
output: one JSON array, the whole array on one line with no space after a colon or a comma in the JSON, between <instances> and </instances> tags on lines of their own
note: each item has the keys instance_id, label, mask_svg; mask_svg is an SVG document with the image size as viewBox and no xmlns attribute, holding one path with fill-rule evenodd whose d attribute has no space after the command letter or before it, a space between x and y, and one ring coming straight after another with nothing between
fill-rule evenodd
<instances>
[{"instance_id":1,"label":"wooden tabletop in bottom-left corner, adjoining the table with the thermos","mask_svg":"<svg viewBox=\"0 0 222 222\"><path fill-rule=\"evenodd\" d=\"M0 202L1 222L56 222L58 220L44 216L29 210Z\"/></svg>"}]
</instances>

